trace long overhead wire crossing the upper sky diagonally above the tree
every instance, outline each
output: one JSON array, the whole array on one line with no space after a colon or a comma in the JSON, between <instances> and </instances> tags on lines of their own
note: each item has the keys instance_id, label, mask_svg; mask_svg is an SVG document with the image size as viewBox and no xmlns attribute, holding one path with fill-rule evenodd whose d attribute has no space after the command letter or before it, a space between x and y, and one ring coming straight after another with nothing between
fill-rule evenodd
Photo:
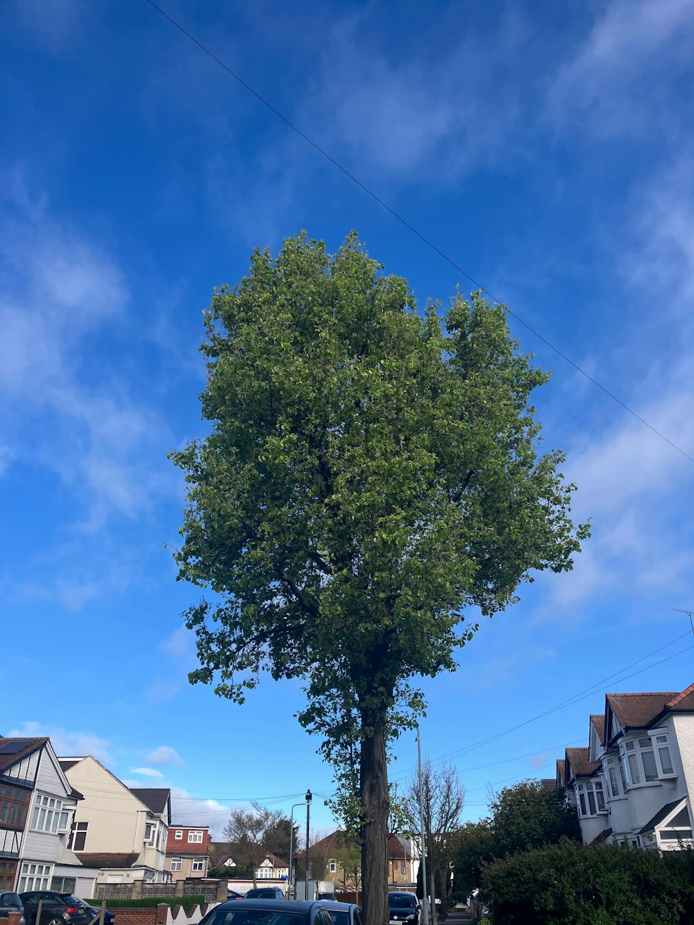
<instances>
[{"instance_id":1,"label":"long overhead wire crossing the upper sky diagonally above the tree","mask_svg":"<svg viewBox=\"0 0 694 925\"><path fill-rule=\"evenodd\" d=\"M189 39L194 45L197 45L197 47L198 47L202 52L204 52L205 55L207 55L208 57L212 58L212 60L213 60L220 68L222 68L223 70L225 70L225 71L229 74L230 77L232 77L234 80L238 81L238 83L240 83L240 84L242 85L242 87L243 87L244 90L247 90L248 93L252 93L252 94L254 95L254 97L258 100L258 102L260 102L260 103L262 103L264 106L266 106L266 108L269 109L269 111L270 111L274 116L278 117L282 122L284 122L284 124L285 124L289 129L291 129L292 131L296 132L296 134L299 135L300 138L304 139L304 142L306 142L307 144L310 144L311 147L312 147L318 154L320 154L322 157L325 157L325 159L326 159L330 164L332 164L332 166L334 166L334 167L336 167L338 170L340 170L341 173L344 174L344 176L345 176L347 179L352 180L352 182L353 182L356 186L358 186L360 190L366 192L366 195L367 195L367 196L370 196L371 199L373 199L376 203L378 203L378 205L380 205L383 209L385 209L387 212L389 212L390 215L393 216L393 218L396 219L396 221L400 222L400 224L404 226L404 228L407 228L408 231L411 231L412 234L414 234L416 238L418 238L418 239L421 240L424 244L426 244L426 245L428 246L428 248L430 248L434 253L439 254L439 256L440 256L440 258L441 258L442 260L445 260L445 262L446 262L447 264L451 265L451 266L453 267L454 270L457 270L458 273L462 274L462 275L463 275L466 279L468 279L468 280L473 284L473 286L475 286L478 290L484 292L485 295L488 295L488 296L490 297L490 299L491 299L492 302L496 302L497 305L502 306L503 310L504 310L505 312L507 312L508 314L510 314L510 315L518 322L518 324L522 325L522 326L525 327L528 331L530 331L530 333L533 334L533 335L534 335L536 338L538 338L539 340L541 340L542 343L545 344L545 346L549 347L551 351L554 351L554 353L556 353L557 356L561 357L561 358L564 360L565 363L569 364L570 366L573 366L573 368L576 370L577 373L580 373L581 376L585 376L585 377L589 380L589 382L591 382L591 383L592 383L594 386L596 386L597 388L600 388L601 392L603 392L608 398L610 398L610 399L612 399L613 401L615 401L615 402L616 402L621 408L623 408L627 413L629 413L629 414L631 414L633 417L635 417L635 418L637 419L637 421L639 421L642 425L645 425L646 427L648 427L649 430L651 430L657 437L660 437L662 440L665 441L665 443L668 443L668 444L673 448L673 450L677 450L677 452L678 452L678 453L681 453L682 456L684 456L686 459L688 459L689 462L694 462L694 456L690 456L690 455L688 454L688 452L686 452L685 450L683 450L681 447L678 447L677 444L673 442L673 440L671 440L671 439L668 438L668 437L665 437L665 435L662 433L662 431L658 430L658 429L657 429L656 427L654 427L652 424L649 424L649 422L648 422L645 418L641 417L641 415L638 414L637 412L635 412L633 408L630 408L630 407L626 404L626 402L624 402L624 401L622 401L621 399L617 398L617 396L616 396L609 388L607 388L606 386L603 386L602 383L601 383L598 379L596 379L594 376L590 376L590 374L589 374L585 369L583 369L581 366L579 366L577 363L575 363L569 356L567 356L567 355L564 353L564 351L561 351L558 347L555 347L554 344L551 343L551 341L548 340L547 338L543 337L543 336L539 333L539 331L538 331L536 328L534 328L534 327L528 325L527 321L524 321L523 318L522 318L519 314L516 314L515 312L513 312L513 311L508 307L508 305L504 304L504 303L501 302L499 299L497 299L496 296L493 295L493 294L490 292L490 290L488 290L488 289L487 289L485 286L483 286L481 283L477 282L477 279L475 279L475 278L472 277L469 273L467 273L466 270L464 270L463 267L462 267L461 265L456 264L455 261L452 260L452 258L449 257L447 253L444 253L443 251L441 251L440 247L438 247L432 240L430 240L426 235L424 235L421 231L419 231L417 228L415 228L415 226L412 225L409 221L407 221L407 219L404 218L402 215L400 215L399 212L396 212L395 209L393 209L388 203L386 203L384 200L382 200L382 199L380 198L380 196L378 196L378 194L377 194L376 192L374 192L373 190L369 189L369 187L367 187L365 183L363 183L360 179L358 179L357 177L355 177L354 174L353 174L350 170L348 170L347 167L345 167L343 164L341 164L340 161L338 161L335 157L333 157L332 154L328 154L328 151L326 151L325 148L322 148L317 142L315 142L315 141L314 141L309 135L307 135L302 129L300 129L297 125L295 125L295 124L291 121L291 119L289 119L289 118L286 117L283 113L281 113L281 112L279 111L279 109L277 109L277 108L276 108L274 105L272 105L268 100L266 100L266 98L265 98L261 93L258 93L257 90L254 90L254 88L251 86L250 83L247 83L245 80L242 79L242 77L240 77L239 74L236 73L236 71L234 71L234 70L232 70L231 68L229 68L229 65L225 64L225 62L222 61L221 58L218 58L217 55L214 54L214 52L210 51L210 49L207 48L206 45L204 45L202 42L200 42L198 39L196 39L195 36L192 35L191 32L189 32L187 29L185 29L183 26L181 26L180 22L178 22L176 19L173 19L173 17L169 16L168 13L166 12L166 10L163 10L163 9L161 8L161 6L157 6L157 5L155 4L154 0L146 0L146 2L147 2L150 6L154 7L154 9L157 11L157 13L159 13L161 16L163 16L164 19L167 19L168 22L170 22L172 26L174 26L176 29L178 29L180 32L182 32L182 34L185 35L186 38Z\"/></svg>"}]
</instances>

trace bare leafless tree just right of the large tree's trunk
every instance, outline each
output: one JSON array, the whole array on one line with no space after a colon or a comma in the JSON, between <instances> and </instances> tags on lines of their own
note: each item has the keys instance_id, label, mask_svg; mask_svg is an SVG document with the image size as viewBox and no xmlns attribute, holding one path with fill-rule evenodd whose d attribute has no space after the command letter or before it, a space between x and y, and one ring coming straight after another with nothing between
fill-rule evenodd
<instances>
[{"instance_id":1,"label":"bare leafless tree just right of the large tree's trunk","mask_svg":"<svg viewBox=\"0 0 694 925\"><path fill-rule=\"evenodd\" d=\"M427 856L425 894L431 896L431 920L436 925L436 894L441 898L441 909L446 910L449 891L449 861L458 844L462 829L461 816L465 806L465 787L451 764L433 768L430 759L422 764L422 809L424 832L421 831L419 812L419 777L415 775L407 785L407 805L412 820L413 834L420 850Z\"/></svg>"}]
</instances>

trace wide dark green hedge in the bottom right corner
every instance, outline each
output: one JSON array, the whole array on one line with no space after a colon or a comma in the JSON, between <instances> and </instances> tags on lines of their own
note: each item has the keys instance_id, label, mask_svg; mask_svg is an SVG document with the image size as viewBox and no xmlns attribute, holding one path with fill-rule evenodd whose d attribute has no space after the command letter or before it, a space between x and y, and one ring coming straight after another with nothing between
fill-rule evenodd
<instances>
[{"instance_id":1,"label":"wide dark green hedge in the bottom right corner","mask_svg":"<svg viewBox=\"0 0 694 925\"><path fill-rule=\"evenodd\" d=\"M482 894L494 925L685 925L694 911L694 866L686 851L564 840L494 861Z\"/></svg>"}]
</instances>

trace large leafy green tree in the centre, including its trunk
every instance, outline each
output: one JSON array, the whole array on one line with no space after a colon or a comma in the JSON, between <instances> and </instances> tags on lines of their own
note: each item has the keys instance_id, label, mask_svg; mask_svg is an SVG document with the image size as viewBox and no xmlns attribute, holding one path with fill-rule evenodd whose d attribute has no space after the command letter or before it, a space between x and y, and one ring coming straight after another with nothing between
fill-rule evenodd
<instances>
[{"instance_id":1,"label":"large leafy green tree in the centre, including its trunk","mask_svg":"<svg viewBox=\"0 0 694 925\"><path fill-rule=\"evenodd\" d=\"M534 570L571 568L561 452L539 454L529 404L548 379L501 306L456 296L422 314L351 235L304 235L217 290L205 317L210 433L186 474L181 579L200 668L242 702L262 672L304 679L300 721L359 767L368 925L388 919L390 737L415 722L410 681L455 668L465 609L511 604Z\"/></svg>"}]
</instances>

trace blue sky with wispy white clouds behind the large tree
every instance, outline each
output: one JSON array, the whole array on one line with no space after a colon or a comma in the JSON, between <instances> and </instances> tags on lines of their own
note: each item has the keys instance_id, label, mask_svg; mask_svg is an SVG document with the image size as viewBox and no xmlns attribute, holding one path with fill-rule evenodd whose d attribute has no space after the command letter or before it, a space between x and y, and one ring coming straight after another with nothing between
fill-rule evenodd
<instances>
[{"instance_id":1,"label":"blue sky with wispy white clouds behind the large tree","mask_svg":"<svg viewBox=\"0 0 694 925\"><path fill-rule=\"evenodd\" d=\"M694 455L692 0L161 2ZM195 595L163 548L182 502L167 450L204 433L211 290L302 228L331 249L357 228L420 304L470 284L144 0L9 0L0 18L0 732L170 784L178 820L219 834L230 807L288 809L331 775L293 719L298 685L235 707L186 679ZM488 782L551 776L601 692L694 680L673 610L694 609L694 464L514 334L554 370L545 446L567 451L594 527L573 573L523 586L425 684L424 749L453 754L468 819ZM403 783L412 736L396 757Z\"/></svg>"}]
</instances>

